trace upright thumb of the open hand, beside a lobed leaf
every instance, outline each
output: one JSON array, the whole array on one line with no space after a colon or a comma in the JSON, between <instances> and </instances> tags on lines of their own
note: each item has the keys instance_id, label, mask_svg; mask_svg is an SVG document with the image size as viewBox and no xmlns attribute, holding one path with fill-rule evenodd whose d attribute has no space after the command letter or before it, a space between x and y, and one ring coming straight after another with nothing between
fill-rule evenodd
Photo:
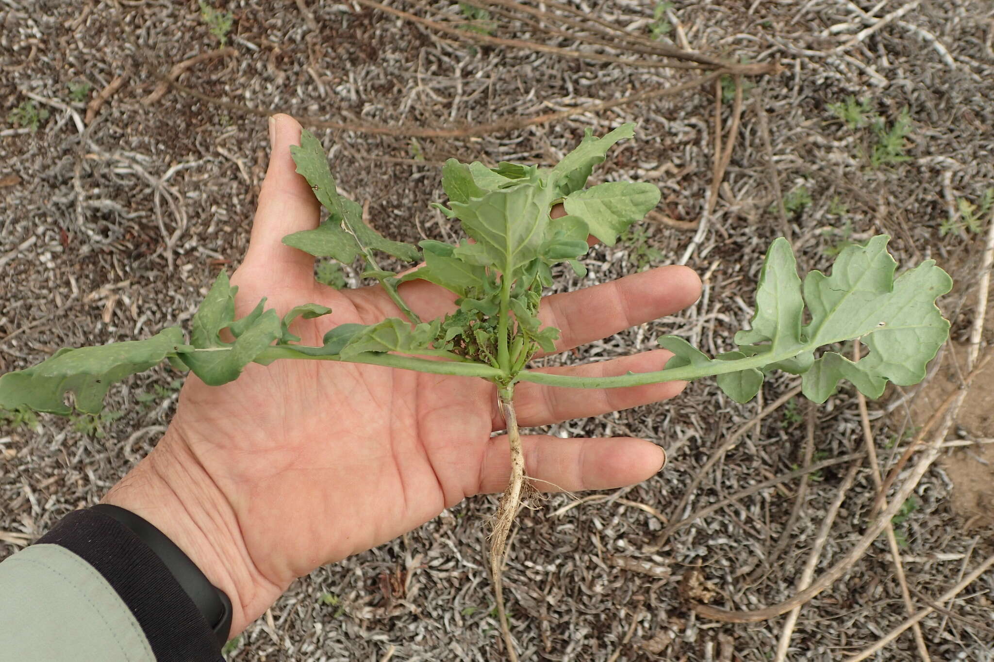
<instances>
[{"instance_id":1,"label":"upright thumb of the open hand, beside a lobed leaf","mask_svg":"<svg viewBox=\"0 0 994 662\"><path fill-rule=\"evenodd\" d=\"M310 284L314 258L283 244L283 237L317 227L321 206L307 180L298 175L290 146L300 144L300 124L289 115L269 117L271 153L258 195L251 238L243 268L264 269L268 279L286 284Z\"/></svg>"}]
</instances>

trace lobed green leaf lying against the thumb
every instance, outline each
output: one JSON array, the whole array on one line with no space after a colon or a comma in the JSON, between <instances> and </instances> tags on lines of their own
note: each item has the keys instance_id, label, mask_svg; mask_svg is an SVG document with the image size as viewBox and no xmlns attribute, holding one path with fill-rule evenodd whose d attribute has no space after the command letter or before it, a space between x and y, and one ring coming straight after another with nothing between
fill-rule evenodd
<instances>
[{"instance_id":1,"label":"lobed green leaf lying against the thumb","mask_svg":"<svg viewBox=\"0 0 994 662\"><path fill-rule=\"evenodd\" d=\"M338 195L335 178L331 176L324 148L321 146L321 141L312 133L303 131L300 134L300 146L291 146L290 154L297 165L297 172L304 176L314 190L314 195L331 212L331 215L318 229L295 232L284 237L283 243L317 257L334 257L342 262L351 262L355 259L360 248L383 251L408 262L420 259L420 253L414 246L384 237L363 221L362 206ZM350 233L356 250L353 250L349 239L343 236ZM313 253L308 250L309 247L321 249L321 252ZM341 257L328 252L330 250L337 251Z\"/></svg>"}]
</instances>

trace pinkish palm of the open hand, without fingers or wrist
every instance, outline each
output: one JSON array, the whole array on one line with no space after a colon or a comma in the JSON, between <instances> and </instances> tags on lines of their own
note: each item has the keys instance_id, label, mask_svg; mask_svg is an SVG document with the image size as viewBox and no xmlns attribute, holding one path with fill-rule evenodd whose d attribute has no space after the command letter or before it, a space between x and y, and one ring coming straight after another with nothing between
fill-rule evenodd
<instances>
[{"instance_id":1,"label":"pinkish palm of the open hand, without fingers or wrist","mask_svg":"<svg viewBox=\"0 0 994 662\"><path fill-rule=\"evenodd\" d=\"M255 289L242 285L240 305L273 292L260 286L256 296ZM385 317L361 312L351 297L322 286L288 296L269 303L288 310L306 300L334 311L294 328L305 343L320 344L340 324ZM244 518L252 558L268 558L272 545L294 541L295 558L260 568L280 584L315 562L395 538L477 493L496 424L495 397L492 385L474 378L280 361L249 366L223 387L191 378L174 425L187 439L201 440L192 450ZM206 439L201 430L218 432ZM276 507L282 504L301 507Z\"/></svg>"}]
</instances>

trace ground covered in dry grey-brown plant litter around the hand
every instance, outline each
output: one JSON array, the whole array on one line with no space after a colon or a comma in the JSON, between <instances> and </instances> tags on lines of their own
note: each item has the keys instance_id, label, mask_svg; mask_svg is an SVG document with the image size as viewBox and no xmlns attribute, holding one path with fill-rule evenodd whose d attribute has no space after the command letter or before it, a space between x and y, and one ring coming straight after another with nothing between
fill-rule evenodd
<instances>
[{"instance_id":1,"label":"ground covered in dry grey-brown plant litter around the hand","mask_svg":"<svg viewBox=\"0 0 994 662\"><path fill-rule=\"evenodd\" d=\"M145 336L189 320L216 273L237 266L248 242L267 155L264 117L244 107L395 127L397 135L349 129L318 135L331 146L343 191L370 200L373 223L383 232L409 240L457 231L428 205L443 199L438 165L444 159L549 163L586 128L603 133L637 122L637 141L616 150L596 176L657 184L663 190L658 211L679 222L656 216L628 241L596 249L590 273L583 279L564 275L561 288L687 254L704 277L704 296L678 316L556 361L648 349L668 332L709 353L728 349L751 315L762 251L785 229L805 270L826 268L840 243L880 232L892 235L902 268L936 259L956 280L941 306L953 323L953 339L965 342L976 315L973 292L989 221L981 219L980 232L957 227L963 220L957 204L978 203L994 187L994 7L986 0L907 2L886 2L869 18L863 12L877 3L674 3L663 43L686 42L686 48L733 62L778 62L781 69L748 79L731 164L715 210L697 232L687 226L704 215L711 184L710 86L487 135L412 140L405 128L535 117L686 82L698 74L693 70L482 45L361 4L218 0L234 15L228 36L234 54L200 62L179 78L214 100L169 89L143 103L170 67L219 47L197 3L0 0L0 108L6 115L33 94L41 99L36 106L50 113L37 133L0 125L0 370L26 367L61 346ZM466 23L454 2L392 6L450 25ZM493 34L653 59L627 52L620 41L615 49L591 47L564 18L598 18L648 35L655 3L571 6L583 16L554 13L537 24L520 20L528 18L520 11L509 18L494 10ZM903 7L905 13L881 21ZM87 104L119 76L126 76L123 84L86 120ZM90 90L74 100L68 84L81 82ZM872 165L880 143L873 123L850 128L830 108L850 95L866 99L868 115L884 118L885 131L908 108L905 158ZM768 118L768 150L759 107ZM803 187L810 201L781 218L774 182L788 199L792 192L802 198ZM943 233L943 223L952 231ZM349 276L359 284L355 272ZM989 339L985 334L982 352ZM169 384L175 376L159 370L115 388L108 403L114 414L99 429L91 421L54 417L43 417L37 429L0 427L0 558L67 512L95 503L149 451L173 411ZM942 366L932 380L956 385L958 378ZM766 416L703 476L683 512L672 512L728 435L796 381L774 375L760 401L738 405L704 380L673 402L552 428L563 436L642 436L663 445L670 463L640 485L579 504L573 495L556 495L519 519L505 596L523 659L772 659L782 618L709 621L690 600L745 609L791 596L846 463L812 474L794 518L797 480L739 498L681 529L663 548L647 550L663 526L659 516L688 516L805 463L808 409L795 399ZM994 553L994 522L971 514L991 508L983 489L992 484L991 446L974 443L994 437L987 428L988 385L987 377L974 385L948 440L973 445L946 451L896 527L918 607L924 604L918 596L941 595ZM891 389L871 403L884 471L909 441L905 431L914 423L908 411L928 411L929 388ZM154 397L142 403L142 394ZM814 462L862 451L850 388L812 416ZM869 471L861 466L816 576L870 521L876 493ZM484 521L495 506L494 497L470 499L402 539L301 578L248 628L229 657L503 659L485 554ZM773 555L781 539L784 545ZM952 616L932 613L921 621L933 659L994 660L989 632L976 626L990 623L992 590L994 573L987 573L945 605ZM804 606L788 659L843 659L906 616L881 539ZM874 659L920 658L906 632Z\"/></svg>"}]
</instances>

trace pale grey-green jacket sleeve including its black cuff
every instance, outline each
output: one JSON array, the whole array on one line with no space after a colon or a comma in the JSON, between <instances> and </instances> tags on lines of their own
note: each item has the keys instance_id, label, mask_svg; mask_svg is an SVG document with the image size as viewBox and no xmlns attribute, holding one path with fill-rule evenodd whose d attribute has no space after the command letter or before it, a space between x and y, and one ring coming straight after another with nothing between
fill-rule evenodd
<instances>
[{"instance_id":1,"label":"pale grey-green jacket sleeve including its black cuff","mask_svg":"<svg viewBox=\"0 0 994 662\"><path fill-rule=\"evenodd\" d=\"M0 563L0 660L222 659L194 601L112 517L72 512Z\"/></svg>"}]
</instances>

